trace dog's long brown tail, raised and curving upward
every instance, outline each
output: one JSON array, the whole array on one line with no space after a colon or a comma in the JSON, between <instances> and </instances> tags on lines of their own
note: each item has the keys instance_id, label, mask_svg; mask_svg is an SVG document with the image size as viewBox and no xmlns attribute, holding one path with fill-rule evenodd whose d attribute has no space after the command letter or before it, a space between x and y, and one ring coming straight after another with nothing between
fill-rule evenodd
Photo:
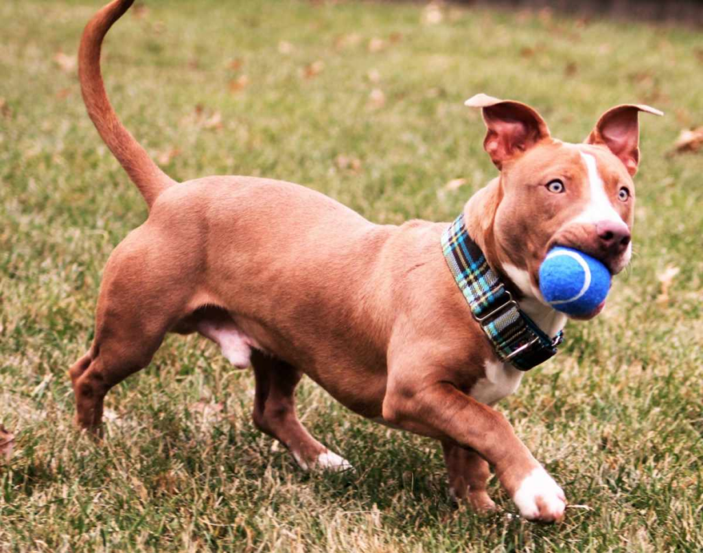
<instances>
[{"instance_id":1,"label":"dog's long brown tail, raised and curving upward","mask_svg":"<svg viewBox=\"0 0 703 553\"><path fill-rule=\"evenodd\" d=\"M176 181L157 167L146 150L117 119L105 93L100 72L100 50L105 34L133 3L134 0L114 0L93 15L83 32L78 51L78 75L88 115L105 144L151 207L157 196Z\"/></svg>"}]
</instances>

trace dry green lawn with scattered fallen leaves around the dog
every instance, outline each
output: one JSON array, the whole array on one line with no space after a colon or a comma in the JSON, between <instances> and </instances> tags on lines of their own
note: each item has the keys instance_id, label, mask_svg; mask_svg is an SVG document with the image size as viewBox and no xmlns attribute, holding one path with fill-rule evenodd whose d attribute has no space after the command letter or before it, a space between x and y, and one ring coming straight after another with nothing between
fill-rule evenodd
<instances>
[{"instance_id":1,"label":"dry green lawn with scattered fallen leaves around the dog","mask_svg":"<svg viewBox=\"0 0 703 553\"><path fill-rule=\"evenodd\" d=\"M283 178L380 223L449 221L494 176L463 107L474 93L534 105L567 141L618 103L666 112L640 117L631 268L605 313L569 323L560 355L499 405L574 504L540 526L511 517L495 481L501 512L454 509L434 442L309 381L302 419L356 470L304 474L254 429L252 374L198 337L169 337L108 395L103 445L73 428L66 371L91 340L105 261L146 217L72 67L100 4L0 2L0 422L17 434L0 467L1 552L703 550L703 155L667 155L703 124L699 33L458 7L428 25L418 4L154 0L106 42L117 112L175 178ZM668 266L679 272L662 298Z\"/></svg>"}]
</instances>

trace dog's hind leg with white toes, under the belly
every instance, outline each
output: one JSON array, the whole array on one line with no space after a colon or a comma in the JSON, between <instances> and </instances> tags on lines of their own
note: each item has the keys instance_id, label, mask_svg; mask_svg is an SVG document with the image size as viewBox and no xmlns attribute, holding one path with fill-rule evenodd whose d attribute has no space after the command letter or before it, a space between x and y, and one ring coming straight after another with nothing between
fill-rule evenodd
<instances>
[{"instance_id":1,"label":"dog's hind leg with white toes, under the belly","mask_svg":"<svg viewBox=\"0 0 703 553\"><path fill-rule=\"evenodd\" d=\"M288 363L252 351L256 377L254 424L283 443L303 469L346 470L347 460L313 438L295 414L295 386L302 372Z\"/></svg>"}]
</instances>

